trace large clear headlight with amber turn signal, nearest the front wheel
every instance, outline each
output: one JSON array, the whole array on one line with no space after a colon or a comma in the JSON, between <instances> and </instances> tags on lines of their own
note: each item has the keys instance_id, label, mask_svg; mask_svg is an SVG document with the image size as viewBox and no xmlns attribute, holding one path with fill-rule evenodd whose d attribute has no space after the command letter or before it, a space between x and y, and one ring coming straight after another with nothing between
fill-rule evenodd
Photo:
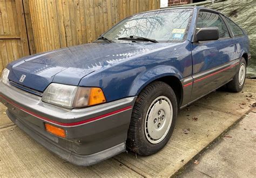
<instances>
[{"instance_id":1,"label":"large clear headlight with amber turn signal, nearest the front wheel","mask_svg":"<svg viewBox=\"0 0 256 178\"><path fill-rule=\"evenodd\" d=\"M106 102L106 99L101 88L50 84L43 93L42 101L68 108L79 108L97 105Z\"/></svg>"}]
</instances>

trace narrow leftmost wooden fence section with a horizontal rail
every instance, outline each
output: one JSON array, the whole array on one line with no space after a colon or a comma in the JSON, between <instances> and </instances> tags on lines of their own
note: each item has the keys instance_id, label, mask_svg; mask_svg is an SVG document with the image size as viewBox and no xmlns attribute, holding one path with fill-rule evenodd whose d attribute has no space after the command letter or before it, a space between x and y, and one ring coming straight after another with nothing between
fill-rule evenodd
<instances>
[{"instance_id":1,"label":"narrow leftmost wooden fence section with a horizontal rail","mask_svg":"<svg viewBox=\"0 0 256 178\"><path fill-rule=\"evenodd\" d=\"M0 73L12 60L29 54L22 1L0 0Z\"/></svg>"}]
</instances>

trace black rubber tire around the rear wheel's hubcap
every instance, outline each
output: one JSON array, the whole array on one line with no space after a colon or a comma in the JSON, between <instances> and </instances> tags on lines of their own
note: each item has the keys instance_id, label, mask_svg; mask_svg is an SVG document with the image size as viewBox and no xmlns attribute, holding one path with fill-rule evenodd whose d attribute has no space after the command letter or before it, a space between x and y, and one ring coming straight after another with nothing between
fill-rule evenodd
<instances>
[{"instance_id":1,"label":"black rubber tire around the rear wheel's hubcap","mask_svg":"<svg viewBox=\"0 0 256 178\"><path fill-rule=\"evenodd\" d=\"M233 80L231 80L229 83L227 83L227 90L230 91L230 92L240 92L242 90L242 88L244 87L245 85L245 78L244 80L242 81L242 83L239 84L239 70L240 70L240 67L244 65L245 66L245 75L246 75L246 61L245 61L245 58L244 57L241 57L241 60L240 60L240 63L239 63L239 68L238 68L238 71L237 73L235 74Z\"/></svg>"}]
</instances>

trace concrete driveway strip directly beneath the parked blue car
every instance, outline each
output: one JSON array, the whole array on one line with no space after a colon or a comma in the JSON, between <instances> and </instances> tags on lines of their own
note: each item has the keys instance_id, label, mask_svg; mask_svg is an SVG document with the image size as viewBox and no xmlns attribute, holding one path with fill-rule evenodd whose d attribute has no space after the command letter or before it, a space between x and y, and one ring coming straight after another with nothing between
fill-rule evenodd
<instances>
[{"instance_id":1,"label":"concrete driveway strip directly beneath the parked blue car","mask_svg":"<svg viewBox=\"0 0 256 178\"><path fill-rule=\"evenodd\" d=\"M1 105L0 176L171 176L252 109L255 97L256 80L249 79L240 93L213 92L179 112L173 135L159 153L123 153L90 167L50 153L11 124Z\"/></svg>"}]
</instances>

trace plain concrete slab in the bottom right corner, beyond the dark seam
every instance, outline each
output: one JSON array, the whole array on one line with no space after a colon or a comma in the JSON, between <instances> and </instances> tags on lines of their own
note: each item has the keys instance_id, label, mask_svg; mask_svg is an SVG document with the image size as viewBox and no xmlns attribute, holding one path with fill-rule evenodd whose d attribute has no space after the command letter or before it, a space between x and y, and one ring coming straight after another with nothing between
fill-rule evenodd
<instances>
[{"instance_id":1,"label":"plain concrete slab in the bottom right corner, beyond the dark seam","mask_svg":"<svg viewBox=\"0 0 256 178\"><path fill-rule=\"evenodd\" d=\"M180 171L182 177L256 177L256 108Z\"/></svg>"}]
</instances>

